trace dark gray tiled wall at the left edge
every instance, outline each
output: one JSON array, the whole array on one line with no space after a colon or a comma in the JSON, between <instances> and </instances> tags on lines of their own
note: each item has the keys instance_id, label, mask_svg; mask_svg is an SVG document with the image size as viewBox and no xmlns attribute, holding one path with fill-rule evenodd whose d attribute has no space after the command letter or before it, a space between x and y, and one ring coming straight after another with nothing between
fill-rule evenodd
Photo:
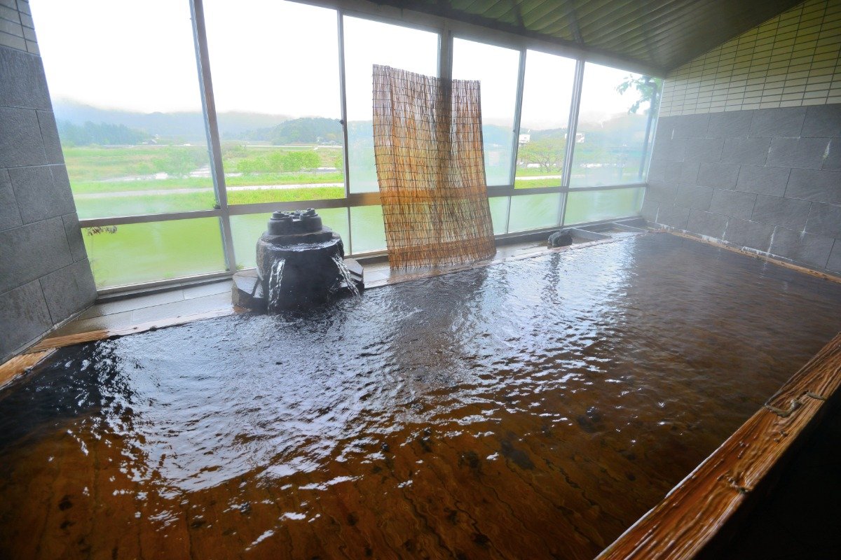
<instances>
[{"instance_id":1,"label":"dark gray tiled wall at the left edge","mask_svg":"<svg viewBox=\"0 0 841 560\"><path fill-rule=\"evenodd\" d=\"M29 14L0 0L0 363L96 298Z\"/></svg>"}]
</instances>

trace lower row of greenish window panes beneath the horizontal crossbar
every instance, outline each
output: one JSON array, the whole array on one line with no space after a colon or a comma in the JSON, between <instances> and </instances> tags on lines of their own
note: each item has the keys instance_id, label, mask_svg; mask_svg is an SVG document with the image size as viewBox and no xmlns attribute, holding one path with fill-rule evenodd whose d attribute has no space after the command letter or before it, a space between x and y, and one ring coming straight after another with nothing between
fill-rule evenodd
<instances>
[{"instance_id":1,"label":"lower row of greenish window panes beneath the horizontal crossbar","mask_svg":"<svg viewBox=\"0 0 841 560\"><path fill-rule=\"evenodd\" d=\"M642 189L570 193L567 223L592 222L627 216L639 210ZM557 223L558 193L514 196L510 231L548 228ZM505 232L508 197L490 199L495 233ZM325 225L333 228L353 251L385 249L381 207L351 208L352 236L348 235L345 208L319 211ZM254 266L257 238L266 229L268 214L232 216L231 228L238 268ZM83 233L85 230L83 230ZM198 218L117 226L116 233L84 235L93 275L99 287L166 280L225 270L220 223L216 218ZM142 247L143 250L138 250Z\"/></svg>"}]
</instances>

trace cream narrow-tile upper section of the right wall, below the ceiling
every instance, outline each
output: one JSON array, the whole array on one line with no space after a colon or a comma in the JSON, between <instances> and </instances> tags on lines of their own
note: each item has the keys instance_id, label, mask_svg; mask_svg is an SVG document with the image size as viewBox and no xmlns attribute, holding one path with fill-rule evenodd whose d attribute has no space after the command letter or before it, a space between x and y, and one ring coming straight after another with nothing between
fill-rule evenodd
<instances>
[{"instance_id":1,"label":"cream narrow-tile upper section of the right wall, below the ceiling","mask_svg":"<svg viewBox=\"0 0 841 560\"><path fill-rule=\"evenodd\" d=\"M841 1L808 0L671 72L660 116L841 103Z\"/></svg>"}]
</instances>

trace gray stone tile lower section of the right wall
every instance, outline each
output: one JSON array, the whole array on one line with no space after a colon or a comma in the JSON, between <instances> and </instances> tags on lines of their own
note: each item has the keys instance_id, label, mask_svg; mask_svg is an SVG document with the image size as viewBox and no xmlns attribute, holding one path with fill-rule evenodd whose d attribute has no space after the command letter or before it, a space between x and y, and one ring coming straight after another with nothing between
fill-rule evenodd
<instances>
[{"instance_id":1,"label":"gray stone tile lower section of the right wall","mask_svg":"<svg viewBox=\"0 0 841 560\"><path fill-rule=\"evenodd\" d=\"M660 118L642 212L841 275L841 104Z\"/></svg>"}]
</instances>

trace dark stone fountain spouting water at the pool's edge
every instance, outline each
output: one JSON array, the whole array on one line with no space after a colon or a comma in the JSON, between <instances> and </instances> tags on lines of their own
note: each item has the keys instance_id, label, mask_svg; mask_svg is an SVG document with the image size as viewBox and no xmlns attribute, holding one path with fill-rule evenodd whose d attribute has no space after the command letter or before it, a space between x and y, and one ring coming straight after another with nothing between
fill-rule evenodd
<instances>
[{"instance_id":1,"label":"dark stone fountain spouting water at the pool's edge","mask_svg":"<svg viewBox=\"0 0 841 560\"><path fill-rule=\"evenodd\" d=\"M234 305L256 311L318 306L365 289L362 266L345 259L339 234L315 210L274 212L257 241L257 270L234 275Z\"/></svg>"}]
</instances>

